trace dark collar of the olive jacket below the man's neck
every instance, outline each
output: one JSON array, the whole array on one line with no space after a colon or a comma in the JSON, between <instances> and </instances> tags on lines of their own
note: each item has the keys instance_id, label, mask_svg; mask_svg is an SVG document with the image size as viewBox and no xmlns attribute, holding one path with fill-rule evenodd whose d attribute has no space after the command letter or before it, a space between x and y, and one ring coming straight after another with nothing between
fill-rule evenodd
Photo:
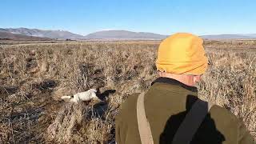
<instances>
[{"instance_id":1,"label":"dark collar of the olive jacket below the man's neck","mask_svg":"<svg viewBox=\"0 0 256 144\"><path fill-rule=\"evenodd\" d=\"M151 83L151 86L154 85L154 83L156 82L160 82L160 83L166 83L166 84L170 84L170 85L177 85L177 86L182 86L182 88L186 89L186 90L190 90L192 92L198 92L197 87L195 86L187 86L182 82L179 82L173 78L157 78L156 80L154 80L154 82Z\"/></svg>"}]
</instances>

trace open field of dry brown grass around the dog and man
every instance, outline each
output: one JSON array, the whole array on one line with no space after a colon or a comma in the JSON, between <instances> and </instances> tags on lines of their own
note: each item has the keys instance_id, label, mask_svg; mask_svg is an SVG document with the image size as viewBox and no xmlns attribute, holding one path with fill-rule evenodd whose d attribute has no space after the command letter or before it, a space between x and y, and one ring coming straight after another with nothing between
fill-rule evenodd
<instances>
[{"instance_id":1,"label":"open field of dry brown grass around the dog and man","mask_svg":"<svg viewBox=\"0 0 256 144\"><path fill-rule=\"evenodd\" d=\"M114 116L157 78L159 42L0 45L0 143L114 143ZM256 138L256 41L207 41L200 97L226 107ZM99 88L78 106L62 95Z\"/></svg>"}]
</instances>

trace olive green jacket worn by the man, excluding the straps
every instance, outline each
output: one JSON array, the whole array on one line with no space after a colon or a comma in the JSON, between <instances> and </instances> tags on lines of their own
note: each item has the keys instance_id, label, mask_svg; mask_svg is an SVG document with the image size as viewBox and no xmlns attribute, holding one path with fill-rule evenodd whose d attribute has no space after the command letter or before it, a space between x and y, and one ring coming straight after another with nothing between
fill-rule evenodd
<instances>
[{"instance_id":1,"label":"olive green jacket worn by the man, excluding the straps","mask_svg":"<svg viewBox=\"0 0 256 144\"><path fill-rule=\"evenodd\" d=\"M122 103L116 117L115 138L118 144L141 143L138 134L136 103L138 94ZM145 95L145 110L154 144L171 143L183 118L198 99L194 86L170 78L158 78ZM230 111L213 106L194 134L193 144L254 144L242 121Z\"/></svg>"}]
</instances>

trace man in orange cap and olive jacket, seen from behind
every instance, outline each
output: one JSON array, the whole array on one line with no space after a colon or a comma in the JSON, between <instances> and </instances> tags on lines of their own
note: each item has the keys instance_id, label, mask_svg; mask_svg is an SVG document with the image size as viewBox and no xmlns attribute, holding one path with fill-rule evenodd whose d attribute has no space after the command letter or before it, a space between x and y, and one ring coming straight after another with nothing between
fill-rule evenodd
<instances>
[{"instance_id":1,"label":"man in orange cap and olive jacket, seen from behind","mask_svg":"<svg viewBox=\"0 0 256 144\"><path fill-rule=\"evenodd\" d=\"M159 78L146 94L130 95L116 117L118 144L254 143L234 114L198 98L194 85L208 64L202 42L193 34L174 34L160 44Z\"/></svg>"}]
</instances>

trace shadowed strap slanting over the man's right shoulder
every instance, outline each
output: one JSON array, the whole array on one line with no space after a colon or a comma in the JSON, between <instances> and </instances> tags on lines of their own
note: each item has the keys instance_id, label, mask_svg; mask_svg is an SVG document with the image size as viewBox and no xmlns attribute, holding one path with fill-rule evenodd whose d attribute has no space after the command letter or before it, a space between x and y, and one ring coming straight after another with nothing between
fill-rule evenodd
<instances>
[{"instance_id":1,"label":"shadowed strap slanting over the man's right shoulder","mask_svg":"<svg viewBox=\"0 0 256 144\"><path fill-rule=\"evenodd\" d=\"M211 102L205 102L198 99L186 114L181 126L179 126L176 134L174 135L173 144L189 144L194 134L197 132L206 114L213 106Z\"/></svg>"}]
</instances>

